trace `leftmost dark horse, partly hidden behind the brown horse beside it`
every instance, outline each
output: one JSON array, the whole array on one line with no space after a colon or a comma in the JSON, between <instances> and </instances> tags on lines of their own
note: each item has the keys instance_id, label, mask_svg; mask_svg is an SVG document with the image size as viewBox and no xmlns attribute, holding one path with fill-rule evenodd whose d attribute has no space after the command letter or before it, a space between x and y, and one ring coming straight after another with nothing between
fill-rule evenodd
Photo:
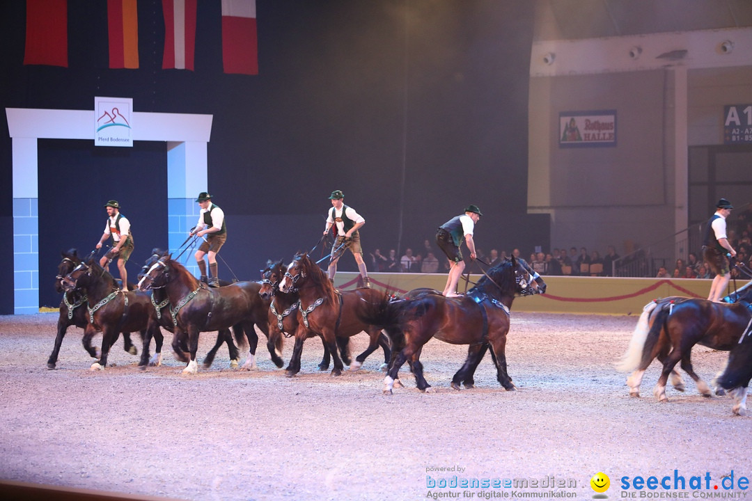
<instances>
[{"instance_id":1,"label":"leftmost dark horse, partly hidden behind the brown horse beside it","mask_svg":"<svg viewBox=\"0 0 752 501\"><path fill-rule=\"evenodd\" d=\"M62 340L65 337L65 333L68 327L74 325L83 329L83 349L91 355L92 358L99 358L99 354L96 352L96 348L92 346L92 338L96 334L96 329L89 324L89 314L86 312L86 293L76 288L73 291L66 292L62 288L62 279L73 271L74 267L77 267L81 260L78 257L76 249L70 249L68 252L61 252L62 261L57 265L57 277L55 279L55 290L62 295L62 301L60 302L60 316L57 320L57 335L55 337L55 346L53 347L50 358L47 360L47 368L54 369L57 365L57 358L60 352L60 346L62 346ZM129 352L131 355L136 355L138 351L136 347L131 343L131 334L129 332L123 333L123 349Z\"/></svg>"}]
</instances>

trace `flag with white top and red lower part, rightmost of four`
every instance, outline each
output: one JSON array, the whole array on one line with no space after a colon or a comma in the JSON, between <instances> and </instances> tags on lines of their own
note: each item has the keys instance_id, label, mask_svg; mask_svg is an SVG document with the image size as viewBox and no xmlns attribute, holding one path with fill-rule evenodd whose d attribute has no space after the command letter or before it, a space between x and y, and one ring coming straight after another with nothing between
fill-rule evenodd
<instances>
[{"instance_id":1,"label":"flag with white top and red lower part, rightmost of four","mask_svg":"<svg viewBox=\"0 0 752 501\"><path fill-rule=\"evenodd\" d=\"M222 0L222 62L225 73L259 74L256 0Z\"/></svg>"}]
</instances>

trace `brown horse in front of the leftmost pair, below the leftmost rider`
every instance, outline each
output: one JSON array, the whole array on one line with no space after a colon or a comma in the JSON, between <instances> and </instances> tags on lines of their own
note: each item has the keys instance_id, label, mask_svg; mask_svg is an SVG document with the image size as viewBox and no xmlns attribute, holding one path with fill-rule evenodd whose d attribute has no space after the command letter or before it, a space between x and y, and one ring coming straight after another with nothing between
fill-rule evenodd
<instances>
[{"instance_id":1,"label":"brown horse in front of the leftmost pair, below the leftmost rider","mask_svg":"<svg viewBox=\"0 0 752 501\"><path fill-rule=\"evenodd\" d=\"M102 354L91 370L107 367L108 353L121 331L140 331L143 339L147 332L153 335L154 330L159 330L159 325L152 321L152 305L147 294L122 291L93 256L66 274L62 287L67 292L80 288L86 293L89 324L102 331Z\"/></svg>"}]
</instances>

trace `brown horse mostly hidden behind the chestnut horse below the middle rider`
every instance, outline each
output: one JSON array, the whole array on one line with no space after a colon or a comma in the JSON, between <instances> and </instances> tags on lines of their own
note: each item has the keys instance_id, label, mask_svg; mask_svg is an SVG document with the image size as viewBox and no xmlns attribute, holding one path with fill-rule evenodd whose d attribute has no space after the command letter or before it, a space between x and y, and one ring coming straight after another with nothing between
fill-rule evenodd
<instances>
[{"instance_id":1,"label":"brown horse mostly hidden behind the chestnut horse below the middle rider","mask_svg":"<svg viewBox=\"0 0 752 501\"><path fill-rule=\"evenodd\" d=\"M297 291L288 292L287 294L279 290L279 284L287 272L287 266L285 266L280 259L271 266L267 267L262 272L261 288L259 289L259 295L264 300L270 300L269 303L269 342L277 343L280 341L280 351L282 348L283 336L293 337L295 331L299 325L298 318L298 305L300 303L300 297ZM316 334L309 331L310 337L314 337ZM340 356L345 364L350 364L350 338L338 337L337 345L339 347ZM326 343L323 343L324 355L319 364L319 370L328 370L329 364L331 364L331 355L329 355L329 348Z\"/></svg>"}]
</instances>

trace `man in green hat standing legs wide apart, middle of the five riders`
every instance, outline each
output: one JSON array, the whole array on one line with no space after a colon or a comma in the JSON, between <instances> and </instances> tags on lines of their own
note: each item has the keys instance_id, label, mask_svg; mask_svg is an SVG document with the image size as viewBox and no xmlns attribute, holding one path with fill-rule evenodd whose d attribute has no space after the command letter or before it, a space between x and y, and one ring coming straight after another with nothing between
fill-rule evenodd
<instances>
[{"instance_id":1,"label":"man in green hat standing legs wide apart, middle of the five riders","mask_svg":"<svg viewBox=\"0 0 752 501\"><path fill-rule=\"evenodd\" d=\"M335 189L332 195L329 195L332 201L332 208L329 209L329 216L326 218L326 228L324 234L329 233L332 226L335 227L337 238L332 246L332 254L329 255L329 280L334 282L334 276L337 273L337 261L344 254L345 249L350 249L358 264L360 276L363 279L363 287L371 287L368 279L368 271L365 269L363 261L363 250L360 246L359 228L365 225L365 219L355 212L353 207L347 207L344 204L344 194L341 190Z\"/></svg>"}]
</instances>

